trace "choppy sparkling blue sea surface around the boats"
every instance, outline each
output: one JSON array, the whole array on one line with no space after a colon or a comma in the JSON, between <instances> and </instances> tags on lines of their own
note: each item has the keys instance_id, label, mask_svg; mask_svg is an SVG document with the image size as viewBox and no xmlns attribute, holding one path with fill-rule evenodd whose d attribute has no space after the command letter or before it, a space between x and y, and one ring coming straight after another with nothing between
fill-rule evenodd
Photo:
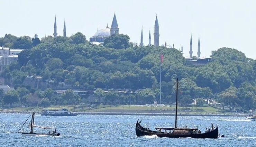
<instances>
[{"instance_id":1,"label":"choppy sparkling blue sea surface around the boats","mask_svg":"<svg viewBox=\"0 0 256 147\"><path fill-rule=\"evenodd\" d=\"M56 128L61 135L22 136L19 131L29 132L30 114L0 113L0 147L255 147L256 121L245 117L178 117L178 127L193 127L202 132L205 128L218 125L218 139L159 138L157 136L137 137L135 124L154 127L173 127L174 116L134 115L78 115L40 116L36 114L35 124ZM19 130L19 131L18 131ZM35 128L34 132L49 130Z\"/></svg>"}]
</instances>

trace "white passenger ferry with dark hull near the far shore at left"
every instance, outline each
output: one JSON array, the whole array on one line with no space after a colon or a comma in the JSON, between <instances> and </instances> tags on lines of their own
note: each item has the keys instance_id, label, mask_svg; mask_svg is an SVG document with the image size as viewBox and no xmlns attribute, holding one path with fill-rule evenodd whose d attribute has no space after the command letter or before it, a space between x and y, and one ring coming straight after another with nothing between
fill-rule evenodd
<instances>
[{"instance_id":1,"label":"white passenger ferry with dark hull near the far shore at left","mask_svg":"<svg viewBox=\"0 0 256 147\"><path fill-rule=\"evenodd\" d=\"M62 109L44 109L42 116L77 116L77 113L68 111L67 108Z\"/></svg>"}]
</instances>

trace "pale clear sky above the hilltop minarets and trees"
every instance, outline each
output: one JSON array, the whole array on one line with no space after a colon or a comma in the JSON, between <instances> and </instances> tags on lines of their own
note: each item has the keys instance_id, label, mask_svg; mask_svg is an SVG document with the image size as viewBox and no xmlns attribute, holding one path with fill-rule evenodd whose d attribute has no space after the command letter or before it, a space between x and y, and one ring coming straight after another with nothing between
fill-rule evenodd
<instances>
[{"instance_id":1,"label":"pale clear sky above the hilltop minarets and trees","mask_svg":"<svg viewBox=\"0 0 256 147\"><path fill-rule=\"evenodd\" d=\"M99 29L111 26L114 13L119 34L130 42L148 44L149 29L154 44L156 15L159 23L159 45L173 45L189 56L192 35L193 56L197 54L200 36L201 57L212 50L235 48L246 57L256 59L256 1L254 0L1 0L0 37L5 34L39 38L54 33L56 15L58 36L81 32L89 40Z\"/></svg>"}]
</instances>

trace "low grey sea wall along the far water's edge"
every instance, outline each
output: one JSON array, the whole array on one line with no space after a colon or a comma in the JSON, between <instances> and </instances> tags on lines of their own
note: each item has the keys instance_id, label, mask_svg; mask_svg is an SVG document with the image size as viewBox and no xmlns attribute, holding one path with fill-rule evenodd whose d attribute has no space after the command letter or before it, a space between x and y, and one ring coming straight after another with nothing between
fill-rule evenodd
<instances>
[{"instance_id":1,"label":"low grey sea wall along the far water's edge","mask_svg":"<svg viewBox=\"0 0 256 147\"><path fill-rule=\"evenodd\" d=\"M1 110L0 113L31 113L31 111ZM38 112L41 113L41 112ZM138 115L138 116L175 116L174 113L129 113L129 112L74 112L81 115ZM246 114L195 114L179 113L177 116L220 116L220 117L245 117Z\"/></svg>"}]
</instances>

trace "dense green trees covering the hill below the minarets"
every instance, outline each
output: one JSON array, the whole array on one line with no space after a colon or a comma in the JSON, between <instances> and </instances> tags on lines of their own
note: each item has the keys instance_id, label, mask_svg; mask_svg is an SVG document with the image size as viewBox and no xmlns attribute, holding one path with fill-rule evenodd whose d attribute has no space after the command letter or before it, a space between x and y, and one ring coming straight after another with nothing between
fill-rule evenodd
<instances>
[{"instance_id":1,"label":"dense green trees covering the hill below the minarets","mask_svg":"<svg viewBox=\"0 0 256 147\"><path fill-rule=\"evenodd\" d=\"M159 102L160 57L162 53L162 103L174 102L175 80L179 78L183 98L211 98L230 110L256 107L256 61L232 48L212 51L211 62L194 66L186 61L180 50L160 46L134 46L127 35L109 36L103 45L94 45L85 35L52 36L41 40L35 35L0 38L4 47L25 49L18 61L6 66L1 73L5 84L15 90L3 93L2 105L25 103L36 105L44 89L24 84L27 76L42 77L42 81L64 82L72 89L96 89L96 104L146 104ZM110 89L104 93L102 89ZM116 89L139 90L136 94L120 94ZM102 92L103 91L103 92ZM70 92L70 93L68 93ZM31 100L36 94L38 100ZM72 90L62 95L49 94L45 105L77 104L81 97Z\"/></svg>"}]
</instances>

